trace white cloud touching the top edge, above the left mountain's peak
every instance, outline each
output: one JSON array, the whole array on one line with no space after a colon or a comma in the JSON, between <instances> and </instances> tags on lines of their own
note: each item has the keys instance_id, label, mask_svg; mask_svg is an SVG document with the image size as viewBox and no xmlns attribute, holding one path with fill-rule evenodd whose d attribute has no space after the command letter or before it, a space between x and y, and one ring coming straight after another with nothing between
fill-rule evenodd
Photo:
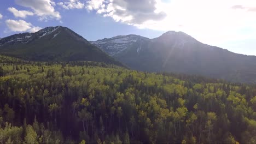
<instances>
[{"instance_id":1,"label":"white cloud touching the top edge, above the left mountain's peak","mask_svg":"<svg viewBox=\"0 0 256 144\"><path fill-rule=\"evenodd\" d=\"M55 11L55 2L52 0L16 0L16 3L27 8L31 8L40 20L56 19L60 20L59 11Z\"/></svg>"}]
</instances>

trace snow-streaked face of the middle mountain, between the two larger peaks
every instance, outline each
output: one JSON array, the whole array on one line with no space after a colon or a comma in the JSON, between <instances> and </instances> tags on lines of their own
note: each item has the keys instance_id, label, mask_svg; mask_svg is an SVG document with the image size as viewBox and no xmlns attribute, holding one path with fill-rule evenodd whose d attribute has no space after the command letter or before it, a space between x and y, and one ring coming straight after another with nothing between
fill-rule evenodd
<instances>
[{"instance_id":1,"label":"snow-streaked face of the middle mountain, between the two larger peaks","mask_svg":"<svg viewBox=\"0 0 256 144\"><path fill-rule=\"evenodd\" d=\"M127 49L127 47L131 46L132 44L136 43L140 39L147 39L141 37L139 35L118 35L117 37L113 38L104 38L97 41L90 41L91 44L94 44L100 47L101 50L107 52L110 56L114 56L117 53L120 53Z\"/></svg>"}]
</instances>

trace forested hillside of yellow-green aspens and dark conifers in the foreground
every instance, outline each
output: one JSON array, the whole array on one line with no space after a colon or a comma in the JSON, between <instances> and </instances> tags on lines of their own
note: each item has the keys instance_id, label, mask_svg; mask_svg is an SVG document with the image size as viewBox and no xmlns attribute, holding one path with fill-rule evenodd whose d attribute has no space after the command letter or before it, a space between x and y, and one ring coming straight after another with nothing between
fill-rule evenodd
<instances>
[{"instance_id":1,"label":"forested hillside of yellow-green aspens and dark conifers in the foreground","mask_svg":"<svg viewBox=\"0 0 256 144\"><path fill-rule=\"evenodd\" d=\"M0 59L0 143L256 143L255 86Z\"/></svg>"}]
</instances>

